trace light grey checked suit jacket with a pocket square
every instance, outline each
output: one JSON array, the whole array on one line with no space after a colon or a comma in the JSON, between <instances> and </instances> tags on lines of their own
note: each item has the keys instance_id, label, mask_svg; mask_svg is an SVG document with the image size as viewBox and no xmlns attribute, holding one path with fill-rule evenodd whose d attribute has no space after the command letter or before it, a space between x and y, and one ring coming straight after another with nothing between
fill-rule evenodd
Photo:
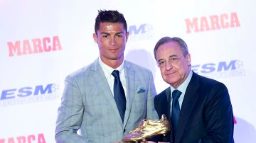
<instances>
[{"instance_id":1,"label":"light grey checked suit jacket with a pocket square","mask_svg":"<svg viewBox=\"0 0 256 143\"><path fill-rule=\"evenodd\" d=\"M142 119L159 119L154 110L156 89L151 71L124 61L124 72L127 82L124 124L98 59L66 77L58 108L56 142L121 142Z\"/></svg>"}]
</instances>

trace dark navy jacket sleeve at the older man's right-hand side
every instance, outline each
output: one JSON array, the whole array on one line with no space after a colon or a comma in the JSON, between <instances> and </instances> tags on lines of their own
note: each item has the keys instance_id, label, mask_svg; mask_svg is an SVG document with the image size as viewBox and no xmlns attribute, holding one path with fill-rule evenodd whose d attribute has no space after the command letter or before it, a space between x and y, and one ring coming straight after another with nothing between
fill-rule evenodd
<instances>
[{"instance_id":1,"label":"dark navy jacket sleeve at the older man's right-hand side","mask_svg":"<svg viewBox=\"0 0 256 143\"><path fill-rule=\"evenodd\" d=\"M207 135L199 142L234 142L233 109L228 89L218 83L209 94L205 105Z\"/></svg>"}]
</instances>

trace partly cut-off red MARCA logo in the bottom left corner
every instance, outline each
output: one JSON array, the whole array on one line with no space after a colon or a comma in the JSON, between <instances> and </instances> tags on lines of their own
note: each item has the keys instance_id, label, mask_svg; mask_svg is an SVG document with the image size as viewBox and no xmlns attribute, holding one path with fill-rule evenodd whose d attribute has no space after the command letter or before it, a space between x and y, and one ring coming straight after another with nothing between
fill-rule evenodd
<instances>
[{"instance_id":1,"label":"partly cut-off red MARCA logo in the bottom left corner","mask_svg":"<svg viewBox=\"0 0 256 143\"><path fill-rule=\"evenodd\" d=\"M0 139L0 143L46 143L46 139L43 134L28 135L19 137L9 137L8 139Z\"/></svg>"}]
</instances>

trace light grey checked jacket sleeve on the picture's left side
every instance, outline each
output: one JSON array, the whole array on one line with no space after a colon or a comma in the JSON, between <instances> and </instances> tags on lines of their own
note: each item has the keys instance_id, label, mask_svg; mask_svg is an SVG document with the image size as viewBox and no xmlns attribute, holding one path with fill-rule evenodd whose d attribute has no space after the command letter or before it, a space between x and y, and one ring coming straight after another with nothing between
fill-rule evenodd
<instances>
[{"instance_id":1,"label":"light grey checked jacket sleeve on the picture's left side","mask_svg":"<svg viewBox=\"0 0 256 143\"><path fill-rule=\"evenodd\" d=\"M88 142L85 137L78 135L82 122L82 98L78 86L69 76L65 79L65 88L58 108L55 127L55 141L57 143Z\"/></svg>"}]
</instances>

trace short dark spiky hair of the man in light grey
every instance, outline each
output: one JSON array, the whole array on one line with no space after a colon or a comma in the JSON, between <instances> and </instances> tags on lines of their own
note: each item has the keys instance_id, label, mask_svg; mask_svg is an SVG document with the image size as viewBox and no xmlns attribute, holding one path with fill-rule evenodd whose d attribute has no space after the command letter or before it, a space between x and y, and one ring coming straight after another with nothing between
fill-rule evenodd
<instances>
[{"instance_id":1,"label":"short dark spiky hair of the man in light grey","mask_svg":"<svg viewBox=\"0 0 256 143\"><path fill-rule=\"evenodd\" d=\"M98 15L95 18L95 34L97 34L97 30L100 28L100 23L123 23L124 30L127 32L127 22L122 13L118 11L112 10L99 10Z\"/></svg>"}]
</instances>

